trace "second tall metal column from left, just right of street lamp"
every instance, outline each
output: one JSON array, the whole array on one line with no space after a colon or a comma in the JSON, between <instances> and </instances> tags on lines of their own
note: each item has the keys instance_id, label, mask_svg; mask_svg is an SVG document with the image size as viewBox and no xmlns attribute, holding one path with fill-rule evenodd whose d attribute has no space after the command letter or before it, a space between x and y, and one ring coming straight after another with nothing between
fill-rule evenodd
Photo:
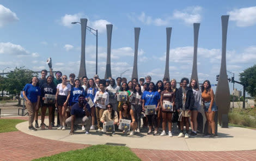
<instances>
[{"instance_id":1,"label":"second tall metal column from left, just right of street lamp","mask_svg":"<svg viewBox=\"0 0 256 161\"><path fill-rule=\"evenodd\" d=\"M105 72L105 79L108 79L111 76L111 59L110 59L110 53L111 53L111 37L112 37L112 28L113 24L107 24L107 65L106 65L106 72Z\"/></svg>"}]
</instances>

